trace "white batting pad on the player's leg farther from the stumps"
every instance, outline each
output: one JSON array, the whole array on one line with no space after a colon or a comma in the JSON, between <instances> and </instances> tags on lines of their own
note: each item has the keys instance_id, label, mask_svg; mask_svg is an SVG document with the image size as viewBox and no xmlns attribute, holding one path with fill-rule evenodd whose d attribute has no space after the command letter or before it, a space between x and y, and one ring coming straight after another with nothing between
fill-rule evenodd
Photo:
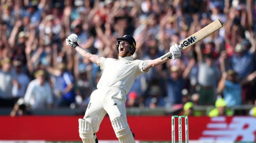
<instances>
[{"instance_id":1,"label":"white batting pad on the player's leg farther from the stumps","mask_svg":"<svg viewBox=\"0 0 256 143\"><path fill-rule=\"evenodd\" d=\"M78 119L78 122L79 136L82 139L83 143L95 143L95 139L93 138L92 125L84 119Z\"/></svg>"}]
</instances>

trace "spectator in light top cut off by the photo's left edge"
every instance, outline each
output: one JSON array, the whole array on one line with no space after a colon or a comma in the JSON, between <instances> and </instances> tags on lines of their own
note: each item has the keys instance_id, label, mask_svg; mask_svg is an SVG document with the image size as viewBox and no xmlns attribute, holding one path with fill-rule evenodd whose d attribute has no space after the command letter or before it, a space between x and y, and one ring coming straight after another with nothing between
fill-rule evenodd
<instances>
[{"instance_id":1,"label":"spectator in light top cut off by the photo's left edge","mask_svg":"<svg viewBox=\"0 0 256 143\"><path fill-rule=\"evenodd\" d=\"M12 63L9 58L1 60L2 69L0 69L0 107L12 107L15 98L12 95L13 85L20 86L16 80L16 74L11 72Z\"/></svg>"}]
</instances>

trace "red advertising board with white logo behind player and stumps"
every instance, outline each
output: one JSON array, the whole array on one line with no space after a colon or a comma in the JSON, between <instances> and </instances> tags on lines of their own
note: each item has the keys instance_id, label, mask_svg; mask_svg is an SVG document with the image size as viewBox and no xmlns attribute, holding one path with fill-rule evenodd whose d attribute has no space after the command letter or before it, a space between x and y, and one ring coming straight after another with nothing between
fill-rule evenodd
<instances>
[{"instance_id":1,"label":"red advertising board with white logo behind player and stumps","mask_svg":"<svg viewBox=\"0 0 256 143\"><path fill-rule=\"evenodd\" d=\"M82 116L0 116L0 140L80 141L78 118ZM128 116L135 139L141 141L170 141L171 116ZM185 124L183 119L183 140ZM97 132L101 140L116 139L108 117ZM207 141L256 141L256 118L189 117L189 139ZM176 119L178 141L178 119Z\"/></svg>"}]
</instances>

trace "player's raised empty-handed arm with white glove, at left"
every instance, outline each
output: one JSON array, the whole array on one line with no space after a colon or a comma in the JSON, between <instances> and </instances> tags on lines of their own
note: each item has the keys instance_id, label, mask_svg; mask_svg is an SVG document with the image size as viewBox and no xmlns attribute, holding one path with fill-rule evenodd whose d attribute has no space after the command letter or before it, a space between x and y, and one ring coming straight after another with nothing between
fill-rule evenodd
<instances>
[{"instance_id":1,"label":"player's raised empty-handed arm with white glove, at left","mask_svg":"<svg viewBox=\"0 0 256 143\"><path fill-rule=\"evenodd\" d=\"M96 54L91 54L88 50L80 47L77 43L77 35L76 34L69 35L66 39L66 44L71 45L84 58L90 60L91 62L95 63L96 65L101 66L101 56L98 56Z\"/></svg>"}]
</instances>

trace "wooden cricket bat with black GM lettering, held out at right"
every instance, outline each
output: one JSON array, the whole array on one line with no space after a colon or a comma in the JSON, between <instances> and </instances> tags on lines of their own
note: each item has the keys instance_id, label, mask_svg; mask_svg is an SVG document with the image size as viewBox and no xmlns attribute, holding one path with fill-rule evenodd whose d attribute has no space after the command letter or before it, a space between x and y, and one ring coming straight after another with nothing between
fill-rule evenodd
<instances>
[{"instance_id":1,"label":"wooden cricket bat with black GM lettering, held out at right","mask_svg":"<svg viewBox=\"0 0 256 143\"><path fill-rule=\"evenodd\" d=\"M206 27L202 28L201 30L197 31L196 33L192 34L188 38L182 40L179 42L179 48L180 49L187 49L188 47L194 45L195 43L199 42L200 40L206 38L214 31L220 29L222 27L222 24L219 19L215 20L211 24L207 25ZM167 52L163 56L161 56L161 60L168 57L171 54L171 52Z\"/></svg>"}]
</instances>

